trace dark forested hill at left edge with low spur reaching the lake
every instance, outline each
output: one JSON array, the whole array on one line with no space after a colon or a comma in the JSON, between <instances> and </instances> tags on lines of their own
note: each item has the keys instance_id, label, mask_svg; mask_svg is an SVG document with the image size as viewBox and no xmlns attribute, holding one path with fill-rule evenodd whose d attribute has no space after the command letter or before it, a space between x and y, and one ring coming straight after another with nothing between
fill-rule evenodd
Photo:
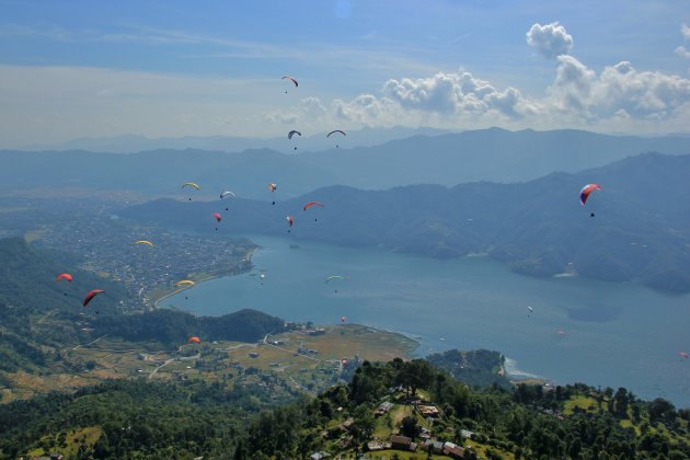
<instances>
[{"instance_id":1,"label":"dark forested hill at left edge with low spur reaching the lake","mask_svg":"<svg viewBox=\"0 0 690 460\"><path fill-rule=\"evenodd\" d=\"M55 279L64 272L71 283ZM105 292L84 308L84 296L95 288ZM126 314L120 301L129 296L122 281L78 269L68 256L35 250L23 239L0 240L0 390L10 387L5 372L62 372L65 348L103 335L176 348L191 335L255 342L284 329L281 319L249 309L219 318L172 310Z\"/></svg>"}]
</instances>

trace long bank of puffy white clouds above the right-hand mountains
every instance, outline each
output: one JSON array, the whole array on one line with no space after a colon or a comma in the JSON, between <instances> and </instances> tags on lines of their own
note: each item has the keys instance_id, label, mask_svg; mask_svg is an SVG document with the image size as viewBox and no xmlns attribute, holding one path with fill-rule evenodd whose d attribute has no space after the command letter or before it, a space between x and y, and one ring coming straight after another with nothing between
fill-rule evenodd
<instances>
[{"instance_id":1,"label":"long bank of puffy white clouds above the right-hand mountains","mask_svg":"<svg viewBox=\"0 0 690 460\"><path fill-rule=\"evenodd\" d=\"M573 56L557 57L541 97L497 89L468 71L389 80L380 95L335 100L334 118L353 126L580 127L594 130L682 130L690 122L690 80L639 71L630 62L597 74Z\"/></svg>"}]
</instances>

